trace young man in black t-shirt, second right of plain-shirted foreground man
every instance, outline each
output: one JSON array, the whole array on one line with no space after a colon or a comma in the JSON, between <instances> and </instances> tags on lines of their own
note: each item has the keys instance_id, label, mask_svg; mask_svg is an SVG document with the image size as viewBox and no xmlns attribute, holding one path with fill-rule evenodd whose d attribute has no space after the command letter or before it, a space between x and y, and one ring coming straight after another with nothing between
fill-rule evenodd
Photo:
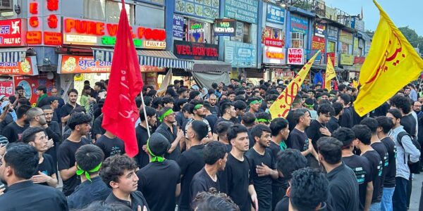
<instances>
[{"instance_id":1,"label":"young man in black t-shirt, second right of plain-shirted foreground man","mask_svg":"<svg viewBox=\"0 0 423 211\"><path fill-rule=\"evenodd\" d=\"M377 153L372 146L370 146L370 141L372 140L372 132L369 127L357 124L353 127L353 132L355 134L357 148L360 148L361 156L367 158L371 165L371 175L373 181L373 196L372 204L370 205L370 210L380 209L380 189L381 189L381 177L382 177L382 160L379 153Z\"/></svg>"}]
</instances>

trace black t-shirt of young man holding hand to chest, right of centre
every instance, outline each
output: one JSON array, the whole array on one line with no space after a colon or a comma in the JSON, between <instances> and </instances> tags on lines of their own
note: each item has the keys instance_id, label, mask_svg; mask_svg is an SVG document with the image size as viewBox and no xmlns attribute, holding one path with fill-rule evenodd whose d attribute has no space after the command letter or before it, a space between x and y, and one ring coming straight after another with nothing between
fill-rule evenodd
<instances>
[{"instance_id":1,"label":"black t-shirt of young man holding hand to chest, right of centre","mask_svg":"<svg viewBox=\"0 0 423 211\"><path fill-rule=\"evenodd\" d=\"M256 171L257 165L262 163L272 170L276 169L276 164L271 151L269 148L265 148L264 155L260 155L255 151L255 148L250 148L247 153L248 161L250 162L250 174L252 177L252 183L254 184L255 191L257 193L257 199L259 200L259 210L271 209L271 184L273 179L270 175L259 177Z\"/></svg>"}]
</instances>

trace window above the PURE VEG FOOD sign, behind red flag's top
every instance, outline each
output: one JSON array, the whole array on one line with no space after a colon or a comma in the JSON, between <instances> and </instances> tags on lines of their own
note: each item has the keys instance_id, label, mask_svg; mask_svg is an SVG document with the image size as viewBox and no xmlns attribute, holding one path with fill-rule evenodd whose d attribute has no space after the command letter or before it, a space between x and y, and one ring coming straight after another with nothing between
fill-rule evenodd
<instances>
[{"instance_id":1,"label":"window above the PURE VEG FOOD sign, behind red flag's top","mask_svg":"<svg viewBox=\"0 0 423 211\"><path fill-rule=\"evenodd\" d=\"M121 15L122 3L108 0L84 0L84 18L118 23ZM125 4L129 23L134 23L133 5Z\"/></svg>"}]
</instances>

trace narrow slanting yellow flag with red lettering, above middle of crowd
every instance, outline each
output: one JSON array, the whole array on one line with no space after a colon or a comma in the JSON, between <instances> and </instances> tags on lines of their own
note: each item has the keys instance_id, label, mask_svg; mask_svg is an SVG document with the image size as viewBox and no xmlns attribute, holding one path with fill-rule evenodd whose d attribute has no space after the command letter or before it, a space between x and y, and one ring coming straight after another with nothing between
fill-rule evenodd
<instances>
[{"instance_id":1,"label":"narrow slanting yellow flag with red lettering, above middle of crowd","mask_svg":"<svg viewBox=\"0 0 423 211\"><path fill-rule=\"evenodd\" d=\"M310 68L312 68L314 59L316 59L319 53L320 51L314 54L314 56L307 62L307 64L302 67L300 72L295 75L294 79L288 84L288 87L286 87L282 91L281 95L270 106L269 111L272 119L277 117L286 118L290 110L290 106L293 105L295 96L297 96L298 90L300 89L302 82L304 82L307 73L309 72Z\"/></svg>"}]
</instances>

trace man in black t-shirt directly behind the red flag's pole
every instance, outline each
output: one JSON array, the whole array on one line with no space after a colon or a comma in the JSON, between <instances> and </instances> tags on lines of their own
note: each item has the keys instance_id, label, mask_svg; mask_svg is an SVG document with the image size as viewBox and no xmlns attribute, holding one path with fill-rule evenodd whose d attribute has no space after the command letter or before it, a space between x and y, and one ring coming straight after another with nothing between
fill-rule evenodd
<instances>
[{"instance_id":1,"label":"man in black t-shirt directly behind the red flag's pole","mask_svg":"<svg viewBox=\"0 0 423 211\"><path fill-rule=\"evenodd\" d=\"M156 110L154 110L154 108L146 106L145 113L147 114L147 119L145 118L144 110L140 110L141 122L137 125L137 127L135 127L135 133L137 134L138 142L138 154L135 155L135 161L137 161L138 167L140 167L140 169L142 167L145 167L149 163L149 158L147 155L147 123L150 130L150 134L152 134L152 127L154 127L157 122Z\"/></svg>"}]
</instances>

